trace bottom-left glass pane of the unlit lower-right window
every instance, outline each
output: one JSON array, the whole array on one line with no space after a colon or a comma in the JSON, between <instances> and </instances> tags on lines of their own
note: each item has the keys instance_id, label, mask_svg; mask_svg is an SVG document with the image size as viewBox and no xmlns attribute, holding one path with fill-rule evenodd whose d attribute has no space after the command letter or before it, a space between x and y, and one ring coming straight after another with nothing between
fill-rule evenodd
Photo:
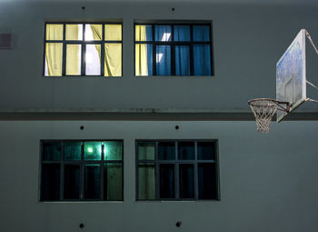
<instances>
[{"instance_id":1,"label":"bottom-left glass pane of the unlit lower-right window","mask_svg":"<svg viewBox=\"0 0 318 232\"><path fill-rule=\"evenodd\" d=\"M154 164L138 165L138 199L155 199Z\"/></svg>"}]
</instances>

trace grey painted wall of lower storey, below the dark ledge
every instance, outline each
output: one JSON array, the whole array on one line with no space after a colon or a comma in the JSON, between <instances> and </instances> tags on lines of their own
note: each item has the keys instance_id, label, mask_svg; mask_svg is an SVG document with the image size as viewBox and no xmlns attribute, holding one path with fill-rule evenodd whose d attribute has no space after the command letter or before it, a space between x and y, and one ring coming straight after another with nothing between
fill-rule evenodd
<instances>
[{"instance_id":1,"label":"grey painted wall of lower storey, below the dark ledge","mask_svg":"<svg viewBox=\"0 0 318 232\"><path fill-rule=\"evenodd\" d=\"M84 130L80 130L80 126ZM175 130L174 126L180 129ZM1 231L318 230L316 122L0 122ZM40 139L124 139L124 202L38 202ZM221 201L136 202L135 139L219 139ZM175 227L181 220L182 226Z\"/></svg>"}]
</instances>

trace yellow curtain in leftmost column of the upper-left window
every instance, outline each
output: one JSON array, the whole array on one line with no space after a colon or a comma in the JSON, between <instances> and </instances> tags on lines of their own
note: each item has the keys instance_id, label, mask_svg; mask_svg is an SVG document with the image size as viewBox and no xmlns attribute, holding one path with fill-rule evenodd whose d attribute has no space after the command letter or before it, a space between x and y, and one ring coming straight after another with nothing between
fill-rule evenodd
<instances>
[{"instance_id":1,"label":"yellow curtain in leftmost column of the upper-left window","mask_svg":"<svg viewBox=\"0 0 318 232\"><path fill-rule=\"evenodd\" d=\"M63 40L63 25L46 25L46 40ZM47 76L62 76L62 43L46 43Z\"/></svg>"}]
</instances>

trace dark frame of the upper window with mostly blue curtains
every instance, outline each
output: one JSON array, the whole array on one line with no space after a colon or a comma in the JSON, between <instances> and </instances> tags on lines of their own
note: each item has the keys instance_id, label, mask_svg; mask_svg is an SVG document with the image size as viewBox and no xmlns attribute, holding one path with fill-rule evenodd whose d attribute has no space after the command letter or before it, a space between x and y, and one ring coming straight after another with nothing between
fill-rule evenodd
<instances>
[{"instance_id":1,"label":"dark frame of the upper window with mostly blue curtains","mask_svg":"<svg viewBox=\"0 0 318 232\"><path fill-rule=\"evenodd\" d=\"M135 40L135 25L152 25L152 41L136 41ZM170 25L171 26L171 41L155 41L154 39L154 26L155 25ZM174 41L174 25L189 25L190 26L190 41ZM207 25L209 26L209 41L195 41L193 40L193 27L194 25ZM175 75L175 45L189 45L190 50L190 75L194 76L194 44L195 45L210 45L210 57L211 57L211 75L214 76L214 34L213 34L213 21L165 21L165 20L154 20L154 21L135 21L134 22L134 76L135 74L135 45L153 45L153 75L148 76L159 76L156 75L156 45L171 45L171 75ZM160 75L162 76L162 75ZM182 75L178 75L182 76ZM136 76L144 77L144 76Z\"/></svg>"}]
</instances>

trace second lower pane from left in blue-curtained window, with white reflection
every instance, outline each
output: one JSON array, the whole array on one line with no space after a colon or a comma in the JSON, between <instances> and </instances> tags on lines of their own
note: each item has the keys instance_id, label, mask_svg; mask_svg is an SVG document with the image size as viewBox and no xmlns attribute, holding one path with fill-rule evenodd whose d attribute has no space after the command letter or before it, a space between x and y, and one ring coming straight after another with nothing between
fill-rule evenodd
<instances>
[{"instance_id":1,"label":"second lower pane from left in blue-curtained window, with white reflection","mask_svg":"<svg viewBox=\"0 0 318 232\"><path fill-rule=\"evenodd\" d=\"M156 72L157 76L171 75L171 47L170 45L156 46Z\"/></svg>"}]
</instances>

